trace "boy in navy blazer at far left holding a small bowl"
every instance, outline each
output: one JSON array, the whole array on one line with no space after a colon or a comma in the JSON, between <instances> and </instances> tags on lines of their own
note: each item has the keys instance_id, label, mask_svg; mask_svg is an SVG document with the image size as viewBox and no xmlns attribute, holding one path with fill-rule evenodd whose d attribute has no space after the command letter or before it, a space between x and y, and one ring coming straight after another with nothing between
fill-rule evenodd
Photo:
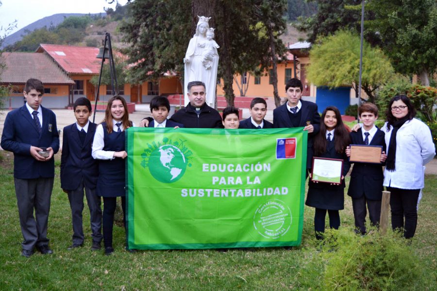
<instances>
[{"instance_id":1,"label":"boy in navy blazer at far left holding a small bowl","mask_svg":"<svg viewBox=\"0 0 437 291\"><path fill-rule=\"evenodd\" d=\"M42 82L27 80L23 94L26 104L6 116L1 147L14 153L15 193L24 238L21 255L30 257L34 248L43 255L53 253L47 225L54 178L53 155L59 150L59 134L56 115L41 106Z\"/></svg>"}]
</instances>

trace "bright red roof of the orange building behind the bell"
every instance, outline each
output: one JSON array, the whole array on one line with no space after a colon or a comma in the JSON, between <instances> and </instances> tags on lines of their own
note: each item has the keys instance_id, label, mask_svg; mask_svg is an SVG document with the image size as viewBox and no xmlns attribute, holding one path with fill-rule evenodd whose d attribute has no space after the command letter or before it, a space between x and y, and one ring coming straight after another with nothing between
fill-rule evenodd
<instances>
[{"instance_id":1,"label":"bright red roof of the orange building behind the bell","mask_svg":"<svg viewBox=\"0 0 437 291\"><path fill-rule=\"evenodd\" d=\"M36 52L47 52L68 74L100 73L98 48L40 44Z\"/></svg>"}]
</instances>

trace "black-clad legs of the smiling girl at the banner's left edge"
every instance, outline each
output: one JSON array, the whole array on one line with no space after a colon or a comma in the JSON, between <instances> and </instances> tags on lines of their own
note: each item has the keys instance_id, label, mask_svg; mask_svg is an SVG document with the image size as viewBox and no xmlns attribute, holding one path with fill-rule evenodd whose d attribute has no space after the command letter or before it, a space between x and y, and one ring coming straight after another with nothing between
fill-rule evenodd
<instances>
[{"instance_id":1,"label":"black-clad legs of the smiling girl at the banner's left edge","mask_svg":"<svg viewBox=\"0 0 437 291\"><path fill-rule=\"evenodd\" d=\"M117 197L103 197L103 244L112 247L112 230L114 228L114 213L117 206ZM121 209L123 210L123 225L126 228L126 197L121 197Z\"/></svg>"}]
</instances>

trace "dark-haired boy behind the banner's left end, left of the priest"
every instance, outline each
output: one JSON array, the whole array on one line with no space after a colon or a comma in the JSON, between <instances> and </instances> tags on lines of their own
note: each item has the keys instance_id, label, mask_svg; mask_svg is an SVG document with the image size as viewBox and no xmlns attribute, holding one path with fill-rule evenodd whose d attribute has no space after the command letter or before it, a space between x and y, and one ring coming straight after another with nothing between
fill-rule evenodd
<instances>
[{"instance_id":1,"label":"dark-haired boy behind the banner's left end, left of the priest","mask_svg":"<svg viewBox=\"0 0 437 291\"><path fill-rule=\"evenodd\" d=\"M168 113L170 112L170 102L167 97L156 96L150 101L150 111L153 120L149 123L149 127L153 128L183 128L184 125L181 123L174 122L167 119Z\"/></svg>"}]
</instances>

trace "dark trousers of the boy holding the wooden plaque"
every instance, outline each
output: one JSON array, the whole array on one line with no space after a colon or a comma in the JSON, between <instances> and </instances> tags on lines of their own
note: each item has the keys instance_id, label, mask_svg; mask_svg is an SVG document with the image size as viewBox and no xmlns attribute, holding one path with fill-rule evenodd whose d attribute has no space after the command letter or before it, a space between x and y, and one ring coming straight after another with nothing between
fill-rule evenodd
<instances>
[{"instance_id":1,"label":"dark trousers of the boy holding the wooden plaque","mask_svg":"<svg viewBox=\"0 0 437 291\"><path fill-rule=\"evenodd\" d=\"M355 219L355 228L361 234L366 233L366 203L369 209L369 220L371 226L379 225L381 216L381 200L366 199L363 195L360 198L352 198L353 218Z\"/></svg>"}]
</instances>

